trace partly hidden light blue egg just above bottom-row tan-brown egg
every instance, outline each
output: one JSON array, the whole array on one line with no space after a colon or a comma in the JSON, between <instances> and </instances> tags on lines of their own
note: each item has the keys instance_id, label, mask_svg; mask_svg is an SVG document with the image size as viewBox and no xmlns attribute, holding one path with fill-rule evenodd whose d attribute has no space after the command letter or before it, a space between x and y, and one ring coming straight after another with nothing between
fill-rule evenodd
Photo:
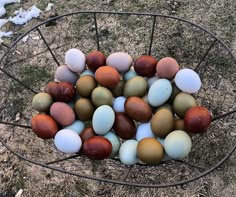
<instances>
[{"instance_id":1,"label":"partly hidden light blue egg just above bottom-row tan-brown egg","mask_svg":"<svg viewBox=\"0 0 236 197\"><path fill-rule=\"evenodd\" d=\"M156 138L155 134L152 132L150 122L142 123L137 128L135 139L140 141L144 138Z\"/></svg>"}]
</instances>

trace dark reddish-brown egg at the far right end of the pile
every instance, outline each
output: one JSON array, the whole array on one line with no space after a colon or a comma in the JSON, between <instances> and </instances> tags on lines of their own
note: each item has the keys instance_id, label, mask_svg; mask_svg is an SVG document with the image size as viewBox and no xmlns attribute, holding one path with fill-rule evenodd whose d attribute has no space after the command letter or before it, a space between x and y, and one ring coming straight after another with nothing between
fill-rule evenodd
<instances>
[{"instance_id":1,"label":"dark reddish-brown egg at the far right end of the pile","mask_svg":"<svg viewBox=\"0 0 236 197\"><path fill-rule=\"evenodd\" d=\"M211 124L211 113L207 108L197 106L189 109L184 117L184 126L188 132L206 132Z\"/></svg>"}]
</instances>

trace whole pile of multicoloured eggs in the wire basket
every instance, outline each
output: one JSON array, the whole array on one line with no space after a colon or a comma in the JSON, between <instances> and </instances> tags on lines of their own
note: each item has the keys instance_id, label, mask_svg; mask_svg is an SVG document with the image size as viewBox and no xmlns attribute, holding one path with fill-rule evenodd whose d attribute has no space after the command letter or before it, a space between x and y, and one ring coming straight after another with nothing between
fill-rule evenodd
<instances>
[{"instance_id":1,"label":"whole pile of multicoloured eggs in the wire basket","mask_svg":"<svg viewBox=\"0 0 236 197\"><path fill-rule=\"evenodd\" d=\"M211 114L198 106L198 74L177 61L123 52L87 56L69 49L55 80L33 97L33 132L54 139L66 154L90 159L117 157L121 163L158 164L182 159L191 136L206 132Z\"/></svg>"}]
</instances>

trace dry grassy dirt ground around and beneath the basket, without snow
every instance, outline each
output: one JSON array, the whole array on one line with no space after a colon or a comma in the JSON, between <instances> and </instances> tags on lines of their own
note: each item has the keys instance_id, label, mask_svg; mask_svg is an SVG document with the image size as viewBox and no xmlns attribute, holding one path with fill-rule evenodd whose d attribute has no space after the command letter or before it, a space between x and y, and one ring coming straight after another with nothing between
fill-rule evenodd
<instances>
[{"instance_id":1,"label":"dry grassy dirt ground around and beneath the basket, without snow","mask_svg":"<svg viewBox=\"0 0 236 197\"><path fill-rule=\"evenodd\" d=\"M210 30L221 38L236 54L236 1L166 1L166 0L22 0L20 4L8 5L11 15L19 7L28 8L34 3L44 10L47 3L55 3L49 12L24 26L6 26L14 30L12 39L5 39L10 46L19 36L34 25L49 17L77 10L151 12L179 16ZM153 18L148 16L97 15L100 50L105 54L127 51L135 58L148 52ZM59 63L63 64L64 53L71 47L83 49L87 54L96 48L93 15L75 15L60 19L55 24L42 26L40 31L53 49ZM157 18L152 55L158 59L173 56L181 67L195 68L214 39L197 28L174 20ZM0 54L7 47L0 45ZM202 66L204 65L204 66ZM1 63L1 68L16 76L29 88L40 91L51 79L57 65L47 51L37 31L29 34L27 42L19 41ZM221 44L215 43L211 52L197 70L203 87L196 98L199 104L208 107L214 116L236 109L236 65ZM30 102L34 93L0 73L0 117L2 121L29 125L34 113ZM212 123L203 136L193 137L193 150L184 163L167 162L157 167L135 166L129 168L119 162L108 160L93 162L75 158L53 167L112 180L135 183L161 184L192 178L204 169L218 163L235 144L236 115L232 114ZM34 161L46 163L65 155L55 151L52 141L42 141L29 129L0 124L0 137L17 153ZM127 172L129 174L127 175ZM127 177L125 178L125 176ZM0 144L0 197L31 196L186 196L186 197L233 197L236 196L236 154L210 175L194 182L168 188L142 188L101 183L77 176L46 169L21 160Z\"/></svg>"}]
</instances>

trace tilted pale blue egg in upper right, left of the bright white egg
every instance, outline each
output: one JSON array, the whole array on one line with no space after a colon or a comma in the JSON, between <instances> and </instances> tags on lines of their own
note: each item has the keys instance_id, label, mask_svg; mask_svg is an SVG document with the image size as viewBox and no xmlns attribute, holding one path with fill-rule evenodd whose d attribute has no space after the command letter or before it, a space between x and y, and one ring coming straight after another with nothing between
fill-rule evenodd
<instances>
[{"instance_id":1,"label":"tilted pale blue egg in upper right, left of the bright white egg","mask_svg":"<svg viewBox=\"0 0 236 197\"><path fill-rule=\"evenodd\" d=\"M148 91L148 102L153 107L164 104L171 95L172 86L167 79L158 79L154 82Z\"/></svg>"}]
</instances>

